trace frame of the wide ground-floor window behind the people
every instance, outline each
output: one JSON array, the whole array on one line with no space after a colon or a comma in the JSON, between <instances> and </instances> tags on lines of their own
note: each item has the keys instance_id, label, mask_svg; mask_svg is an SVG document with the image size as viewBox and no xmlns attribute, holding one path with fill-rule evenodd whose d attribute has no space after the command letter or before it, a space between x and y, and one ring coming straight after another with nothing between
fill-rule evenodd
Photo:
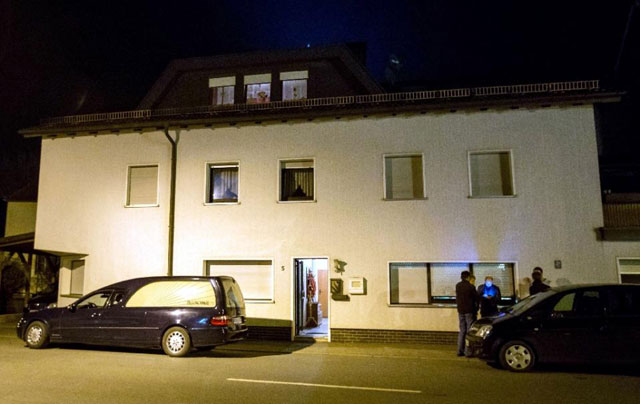
<instances>
[{"instance_id":1,"label":"frame of the wide ground-floor window behind the people","mask_svg":"<svg viewBox=\"0 0 640 404\"><path fill-rule=\"evenodd\" d=\"M391 302L391 265L392 264L425 264L427 266L427 283L428 283L428 303L392 303ZM445 260L393 260L387 261L387 307L404 307L404 308L454 308L456 307L455 296L453 299L450 299L450 303L445 303L443 301L434 301L433 300L433 282L431 279L431 265L433 264L466 264L468 266L468 271L473 274L473 265L474 264L505 264L511 265L512 267L512 282L513 282L513 295L510 297L502 296L500 301L500 305L510 305L514 304L519 299L519 291L517 289L517 279L518 279L518 262L517 261L445 261ZM458 274L458 282L460 281ZM480 283L476 283L475 288L477 289L480 286Z\"/></svg>"}]
</instances>

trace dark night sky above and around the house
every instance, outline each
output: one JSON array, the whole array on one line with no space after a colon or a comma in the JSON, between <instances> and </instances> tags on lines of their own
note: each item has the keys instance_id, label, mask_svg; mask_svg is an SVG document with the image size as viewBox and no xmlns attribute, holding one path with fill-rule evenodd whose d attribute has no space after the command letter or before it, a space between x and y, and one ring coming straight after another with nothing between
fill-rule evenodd
<instances>
[{"instance_id":1,"label":"dark night sky above and around the house","mask_svg":"<svg viewBox=\"0 0 640 404\"><path fill-rule=\"evenodd\" d=\"M0 197L35 196L39 140L16 131L40 118L135 109L175 58L345 42L366 42L379 82L394 54L412 87L601 79L629 90L599 113L602 162L624 177L640 167L640 9L615 71L633 4L0 0ZM637 179L604 185L640 191Z\"/></svg>"}]
</instances>

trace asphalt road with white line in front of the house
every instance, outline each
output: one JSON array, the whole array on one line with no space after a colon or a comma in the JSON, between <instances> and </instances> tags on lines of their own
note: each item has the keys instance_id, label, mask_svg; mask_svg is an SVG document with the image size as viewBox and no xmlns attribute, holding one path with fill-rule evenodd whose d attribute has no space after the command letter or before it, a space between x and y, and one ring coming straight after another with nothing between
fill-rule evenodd
<instances>
[{"instance_id":1,"label":"asphalt road with white line in front of the house","mask_svg":"<svg viewBox=\"0 0 640 404\"><path fill-rule=\"evenodd\" d=\"M638 403L640 370L527 374L424 345L242 342L170 358L82 346L32 350L0 324L0 403Z\"/></svg>"}]
</instances>

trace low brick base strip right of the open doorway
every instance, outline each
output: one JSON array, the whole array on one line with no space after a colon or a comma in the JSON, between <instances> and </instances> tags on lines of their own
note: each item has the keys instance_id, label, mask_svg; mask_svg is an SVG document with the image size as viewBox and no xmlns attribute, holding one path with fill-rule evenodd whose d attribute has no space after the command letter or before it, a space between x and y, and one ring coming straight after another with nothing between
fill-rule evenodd
<instances>
[{"instance_id":1,"label":"low brick base strip right of the open doorway","mask_svg":"<svg viewBox=\"0 0 640 404\"><path fill-rule=\"evenodd\" d=\"M408 330L363 330L354 328L332 328L332 342L379 342L408 344L455 345L457 332L408 331Z\"/></svg>"}]
</instances>

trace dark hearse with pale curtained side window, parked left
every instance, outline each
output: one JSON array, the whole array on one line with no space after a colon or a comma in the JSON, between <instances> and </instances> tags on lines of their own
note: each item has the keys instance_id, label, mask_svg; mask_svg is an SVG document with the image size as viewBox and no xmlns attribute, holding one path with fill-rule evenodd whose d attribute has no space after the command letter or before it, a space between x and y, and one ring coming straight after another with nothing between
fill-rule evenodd
<instances>
[{"instance_id":1,"label":"dark hearse with pale curtained side window, parked left","mask_svg":"<svg viewBox=\"0 0 640 404\"><path fill-rule=\"evenodd\" d=\"M242 292L231 277L137 278L101 288L65 308L26 313L18 337L49 342L162 348L184 356L247 332Z\"/></svg>"}]
</instances>

